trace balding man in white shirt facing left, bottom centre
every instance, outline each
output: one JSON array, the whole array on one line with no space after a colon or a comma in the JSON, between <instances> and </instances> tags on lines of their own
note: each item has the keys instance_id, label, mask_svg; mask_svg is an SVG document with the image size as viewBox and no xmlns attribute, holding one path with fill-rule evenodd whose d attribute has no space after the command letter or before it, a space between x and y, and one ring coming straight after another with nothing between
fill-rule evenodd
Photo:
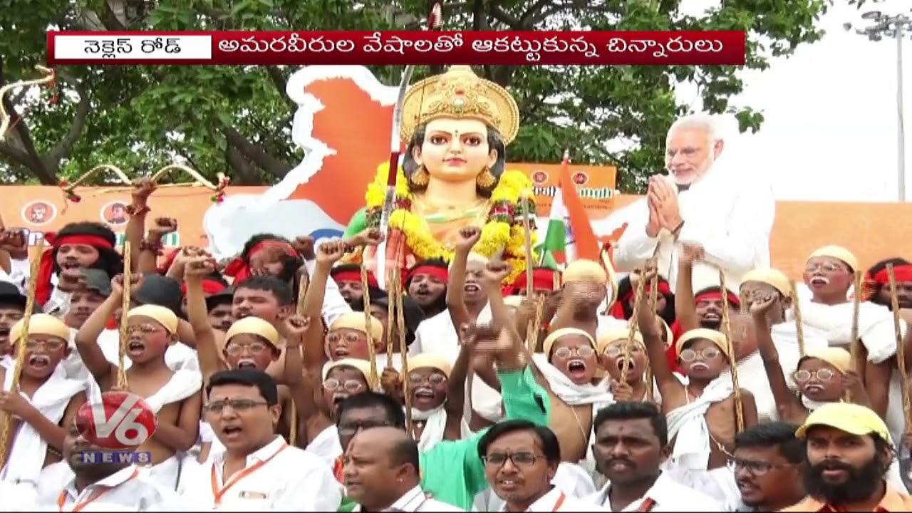
<instances>
[{"instance_id":1,"label":"balding man in white shirt facing left, bottom centre","mask_svg":"<svg viewBox=\"0 0 912 513\"><path fill-rule=\"evenodd\" d=\"M345 454L352 511L462 511L421 489L418 444L395 427L373 427L352 438Z\"/></svg>"}]
</instances>

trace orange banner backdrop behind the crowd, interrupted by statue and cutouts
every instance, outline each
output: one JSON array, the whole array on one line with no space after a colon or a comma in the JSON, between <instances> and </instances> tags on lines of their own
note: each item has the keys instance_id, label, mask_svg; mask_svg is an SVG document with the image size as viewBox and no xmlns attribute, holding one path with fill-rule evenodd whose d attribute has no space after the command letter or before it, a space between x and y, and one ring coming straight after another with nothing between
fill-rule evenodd
<instances>
[{"instance_id":1,"label":"orange banner backdrop behind the crowd, interrupted by statue and cutouts","mask_svg":"<svg viewBox=\"0 0 912 513\"><path fill-rule=\"evenodd\" d=\"M535 182L535 193L541 202L539 215L548 215L558 166L532 164L529 168ZM574 168L587 173L588 180L583 183L580 194L593 220L605 218L639 198L637 195L613 194L614 170L611 168ZM534 173L537 172L546 173L547 178L539 175L536 179ZM600 176L601 173L610 173L610 180ZM229 187L227 194L257 194L265 189ZM66 204L57 187L9 185L2 190L6 201L0 204L0 215L3 215L5 226L28 229L32 233L29 239L33 245L45 232L56 231L74 221L108 223L121 234L126 225L121 209L130 203L128 192L99 194L104 189L85 188L79 191L83 196L80 203ZM202 217L212 206L211 195L211 191L202 187L178 187L161 189L152 196L150 219L168 216L177 218L180 223L178 233L166 241L168 246L208 246ZM772 265L793 278L801 277L807 256L817 247L827 244L850 248L863 267L886 257L912 257L912 224L902 221L912 218L912 204L780 201L776 209Z\"/></svg>"}]
</instances>

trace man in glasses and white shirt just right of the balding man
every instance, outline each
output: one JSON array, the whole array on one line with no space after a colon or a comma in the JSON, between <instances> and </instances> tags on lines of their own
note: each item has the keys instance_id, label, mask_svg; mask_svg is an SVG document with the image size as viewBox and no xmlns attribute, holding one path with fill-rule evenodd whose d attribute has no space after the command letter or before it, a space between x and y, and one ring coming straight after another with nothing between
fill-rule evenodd
<instances>
[{"instance_id":1,"label":"man in glasses and white shirt just right of the balding man","mask_svg":"<svg viewBox=\"0 0 912 513\"><path fill-rule=\"evenodd\" d=\"M501 511L610 511L554 486L561 445L544 425L524 420L494 424L479 441L478 455L492 491L506 503Z\"/></svg>"}]
</instances>

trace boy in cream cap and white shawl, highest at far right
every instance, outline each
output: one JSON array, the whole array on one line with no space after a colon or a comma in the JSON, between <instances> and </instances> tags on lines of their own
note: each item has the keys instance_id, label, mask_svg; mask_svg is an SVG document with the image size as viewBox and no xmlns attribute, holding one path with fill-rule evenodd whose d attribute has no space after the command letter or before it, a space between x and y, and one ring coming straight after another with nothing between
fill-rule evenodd
<instances>
[{"instance_id":1,"label":"boy in cream cap and white shawl, highest at far right","mask_svg":"<svg viewBox=\"0 0 912 513\"><path fill-rule=\"evenodd\" d=\"M858 268L857 258L845 247L824 246L811 254L804 269L804 283L814 293L814 298L801 305L803 321L824 330L831 346L846 350L851 345L854 318L854 303L847 294L854 286L853 278ZM885 419L893 440L902 440L906 422L894 358L893 314L870 301L862 301L858 306L858 338L867 353L867 365L862 373L865 389L872 409ZM900 321L900 330L905 336L906 322Z\"/></svg>"}]
</instances>

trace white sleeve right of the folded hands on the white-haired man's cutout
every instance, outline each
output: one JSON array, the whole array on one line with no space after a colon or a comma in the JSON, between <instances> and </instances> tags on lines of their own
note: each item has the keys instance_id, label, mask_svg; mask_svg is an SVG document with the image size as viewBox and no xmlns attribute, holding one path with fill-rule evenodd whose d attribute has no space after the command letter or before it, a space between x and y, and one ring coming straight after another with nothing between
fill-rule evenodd
<instances>
[{"instance_id":1,"label":"white sleeve right of the folded hands on the white-haired man's cutout","mask_svg":"<svg viewBox=\"0 0 912 513\"><path fill-rule=\"evenodd\" d=\"M770 265L776 202L768 183L750 181L738 186L729 215L684 219L678 240L700 244L710 263L743 273Z\"/></svg>"}]
</instances>

